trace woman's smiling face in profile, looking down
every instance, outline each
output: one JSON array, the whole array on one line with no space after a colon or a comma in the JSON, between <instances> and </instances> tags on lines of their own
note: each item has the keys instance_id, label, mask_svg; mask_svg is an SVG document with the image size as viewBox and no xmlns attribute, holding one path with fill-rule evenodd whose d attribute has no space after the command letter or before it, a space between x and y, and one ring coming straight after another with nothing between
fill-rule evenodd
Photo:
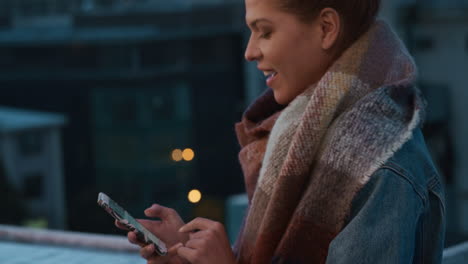
<instances>
[{"instance_id":1,"label":"woman's smiling face in profile, looking down","mask_svg":"<svg viewBox=\"0 0 468 264\"><path fill-rule=\"evenodd\" d=\"M332 60L323 48L320 19L301 22L296 15L280 10L276 1L245 0L251 30L245 58L257 61L275 100L286 105L318 82Z\"/></svg>"}]
</instances>

